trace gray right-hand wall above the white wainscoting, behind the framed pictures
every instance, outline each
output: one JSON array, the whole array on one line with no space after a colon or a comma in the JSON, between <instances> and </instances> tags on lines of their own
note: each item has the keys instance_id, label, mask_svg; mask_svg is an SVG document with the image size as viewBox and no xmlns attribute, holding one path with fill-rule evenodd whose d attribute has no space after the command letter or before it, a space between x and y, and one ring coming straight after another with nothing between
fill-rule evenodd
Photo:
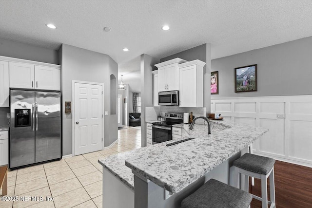
<instances>
[{"instance_id":1,"label":"gray right-hand wall above the white wainscoting, behind the framed pictures","mask_svg":"<svg viewBox=\"0 0 312 208\"><path fill-rule=\"evenodd\" d=\"M257 92L235 93L234 68L257 64ZM312 37L212 60L218 97L312 95Z\"/></svg>"}]
</instances>

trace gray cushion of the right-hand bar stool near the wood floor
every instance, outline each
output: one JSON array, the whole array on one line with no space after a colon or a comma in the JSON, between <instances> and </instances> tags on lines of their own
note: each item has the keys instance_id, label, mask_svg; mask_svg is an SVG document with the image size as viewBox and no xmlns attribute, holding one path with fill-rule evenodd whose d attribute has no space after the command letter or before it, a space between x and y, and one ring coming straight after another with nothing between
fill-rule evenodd
<instances>
[{"instance_id":1,"label":"gray cushion of the right-hand bar stool near the wood floor","mask_svg":"<svg viewBox=\"0 0 312 208\"><path fill-rule=\"evenodd\" d=\"M234 161L234 166L267 175L273 168L274 163L275 160L272 158L246 153Z\"/></svg>"}]
</instances>

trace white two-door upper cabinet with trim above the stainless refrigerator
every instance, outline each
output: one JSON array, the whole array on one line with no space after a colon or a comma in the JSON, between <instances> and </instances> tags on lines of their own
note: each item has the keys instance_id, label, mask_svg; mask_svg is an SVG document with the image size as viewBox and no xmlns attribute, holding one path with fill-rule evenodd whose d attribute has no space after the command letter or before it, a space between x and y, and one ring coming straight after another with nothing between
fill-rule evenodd
<instances>
[{"instance_id":1,"label":"white two-door upper cabinet with trim above the stainless refrigerator","mask_svg":"<svg viewBox=\"0 0 312 208\"><path fill-rule=\"evenodd\" d=\"M9 63L7 80L10 88L60 90L59 65L11 57L0 57L0 59L1 62Z\"/></svg>"}]
</instances>

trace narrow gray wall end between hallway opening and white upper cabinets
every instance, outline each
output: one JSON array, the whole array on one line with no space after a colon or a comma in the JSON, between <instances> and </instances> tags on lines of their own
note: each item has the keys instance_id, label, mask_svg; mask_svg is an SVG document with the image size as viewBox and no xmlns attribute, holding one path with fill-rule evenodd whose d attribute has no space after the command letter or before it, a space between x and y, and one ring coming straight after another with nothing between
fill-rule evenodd
<instances>
[{"instance_id":1,"label":"narrow gray wall end between hallway opening and white upper cabinets","mask_svg":"<svg viewBox=\"0 0 312 208\"><path fill-rule=\"evenodd\" d=\"M159 59L141 55L141 147L146 146L145 107L153 107L153 74Z\"/></svg>"}]
</instances>

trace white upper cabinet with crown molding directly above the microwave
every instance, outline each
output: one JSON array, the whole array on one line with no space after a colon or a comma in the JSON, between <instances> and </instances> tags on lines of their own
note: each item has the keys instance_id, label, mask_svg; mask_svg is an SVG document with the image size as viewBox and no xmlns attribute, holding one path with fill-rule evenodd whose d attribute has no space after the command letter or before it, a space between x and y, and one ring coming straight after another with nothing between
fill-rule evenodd
<instances>
[{"instance_id":1,"label":"white upper cabinet with crown molding directly above the microwave","mask_svg":"<svg viewBox=\"0 0 312 208\"><path fill-rule=\"evenodd\" d=\"M186 60L175 58L164 61L155 66L158 68L158 92L179 90L179 63Z\"/></svg>"}]
</instances>

